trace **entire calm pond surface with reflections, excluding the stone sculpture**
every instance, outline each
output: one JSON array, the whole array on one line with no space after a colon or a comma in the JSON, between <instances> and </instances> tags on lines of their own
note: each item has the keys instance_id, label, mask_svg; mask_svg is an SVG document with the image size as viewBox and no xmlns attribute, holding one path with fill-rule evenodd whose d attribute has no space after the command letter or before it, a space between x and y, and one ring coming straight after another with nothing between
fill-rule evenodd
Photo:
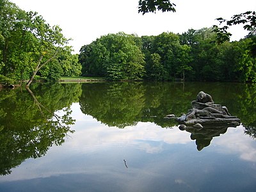
<instances>
[{"instance_id":1,"label":"entire calm pond surface with reflections, excluding the stone sculpture","mask_svg":"<svg viewBox=\"0 0 256 192\"><path fill-rule=\"evenodd\" d=\"M203 90L237 127L180 131ZM33 84L0 91L0 191L255 191L256 84Z\"/></svg>"}]
</instances>

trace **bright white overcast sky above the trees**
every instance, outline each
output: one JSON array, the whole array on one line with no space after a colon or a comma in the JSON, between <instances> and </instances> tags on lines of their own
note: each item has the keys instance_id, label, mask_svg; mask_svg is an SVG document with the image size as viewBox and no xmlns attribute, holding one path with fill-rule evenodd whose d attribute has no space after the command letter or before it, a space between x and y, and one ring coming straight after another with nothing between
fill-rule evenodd
<instances>
[{"instance_id":1,"label":"bright white overcast sky above the trees","mask_svg":"<svg viewBox=\"0 0 256 192\"><path fill-rule=\"evenodd\" d=\"M138 13L139 0L9 0L26 11L38 12L51 26L58 25L70 45L79 53L83 45L102 35L159 35L184 33L188 29L210 28L217 18L256 10L255 0L172 0L176 12ZM230 28L231 40L247 35L243 26Z\"/></svg>"}]
</instances>

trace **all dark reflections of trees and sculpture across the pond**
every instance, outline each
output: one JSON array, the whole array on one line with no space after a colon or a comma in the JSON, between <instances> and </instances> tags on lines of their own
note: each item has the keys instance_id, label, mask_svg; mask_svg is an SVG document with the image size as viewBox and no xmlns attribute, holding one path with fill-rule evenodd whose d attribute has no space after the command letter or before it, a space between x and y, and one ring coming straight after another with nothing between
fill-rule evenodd
<instances>
[{"instance_id":1,"label":"all dark reflections of trees and sculpture across the pond","mask_svg":"<svg viewBox=\"0 0 256 192\"><path fill-rule=\"evenodd\" d=\"M29 157L44 156L52 145L65 141L74 120L70 106L79 102L85 115L108 126L124 129L138 122L163 128L177 125L164 116L187 113L191 100L204 90L241 119L245 133L255 138L256 85L236 83L85 83L34 84L31 90L0 92L0 174ZM61 114L56 111L62 111ZM178 125L177 125L178 126ZM188 129L198 150L224 134L227 127Z\"/></svg>"}]
</instances>

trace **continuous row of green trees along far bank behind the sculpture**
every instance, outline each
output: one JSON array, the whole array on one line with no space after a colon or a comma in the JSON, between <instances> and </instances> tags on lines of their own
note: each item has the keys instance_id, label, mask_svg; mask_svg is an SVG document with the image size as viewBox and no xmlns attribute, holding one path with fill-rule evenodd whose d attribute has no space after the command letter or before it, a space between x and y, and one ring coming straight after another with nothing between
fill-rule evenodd
<instances>
[{"instance_id":1,"label":"continuous row of green trees along far bank behind the sculpture","mask_svg":"<svg viewBox=\"0 0 256 192\"><path fill-rule=\"evenodd\" d=\"M255 35L239 42L218 42L214 28L157 36L124 32L97 38L81 47L83 76L110 80L256 82Z\"/></svg>"}]
</instances>

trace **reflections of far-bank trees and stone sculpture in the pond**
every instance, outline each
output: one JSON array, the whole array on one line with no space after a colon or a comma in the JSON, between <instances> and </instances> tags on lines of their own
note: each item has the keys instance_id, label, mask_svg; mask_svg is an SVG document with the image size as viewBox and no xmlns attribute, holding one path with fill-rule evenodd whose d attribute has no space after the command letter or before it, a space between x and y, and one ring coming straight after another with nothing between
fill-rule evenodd
<instances>
[{"instance_id":1,"label":"reflections of far-bank trees and stone sculpture in the pond","mask_svg":"<svg viewBox=\"0 0 256 192\"><path fill-rule=\"evenodd\" d=\"M79 100L81 111L108 126L124 128L138 122L154 122L161 127L177 125L163 117L187 113L191 100L201 90L211 93L214 101L227 106L241 119L246 134L255 138L256 84L243 83L99 83L83 84ZM194 95L194 96L193 96ZM229 126L232 127L232 126ZM228 127L188 129L198 150L210 145L212 138L227 132Z\"/></svg>"}]
</instances>

